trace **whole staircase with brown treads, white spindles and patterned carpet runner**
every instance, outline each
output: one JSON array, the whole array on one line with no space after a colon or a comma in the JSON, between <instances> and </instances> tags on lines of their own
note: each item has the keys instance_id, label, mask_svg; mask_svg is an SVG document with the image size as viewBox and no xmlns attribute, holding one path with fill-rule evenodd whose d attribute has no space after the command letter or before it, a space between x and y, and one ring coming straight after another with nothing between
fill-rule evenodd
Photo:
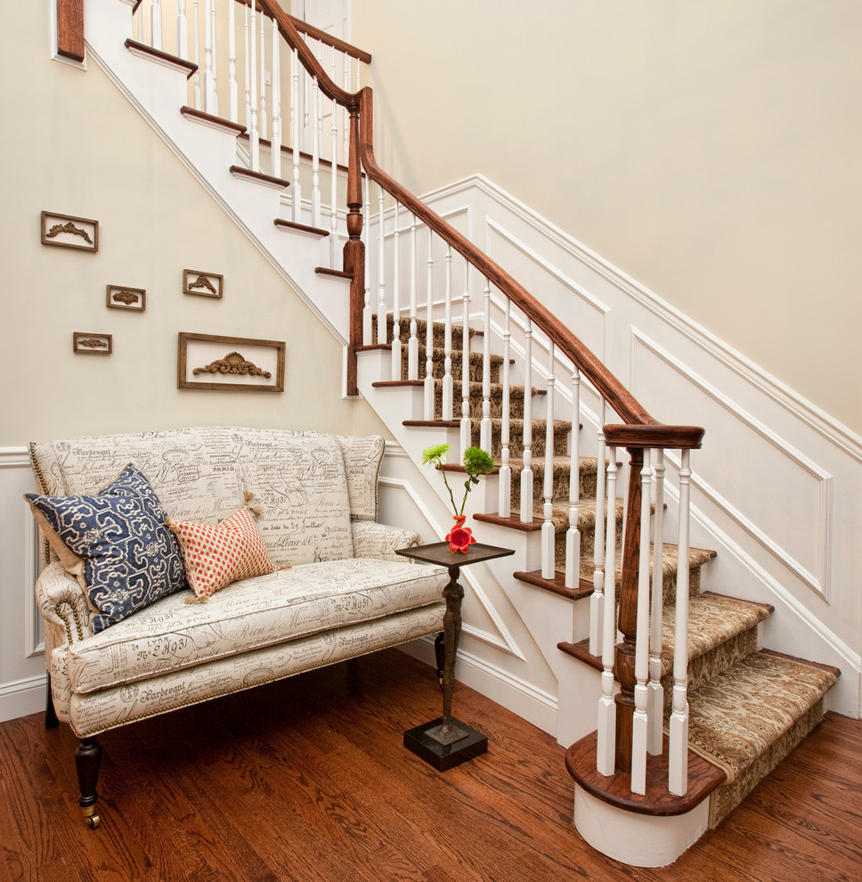
<instances>
[{"instance_id":1,"label":"whole staircase with brown treads, white spindles and patterned carpet runner","mask_svg":"<svg viewBox=\"0 0 862 882\"><path fill-rule=\"evenodd\" d=\"M284 13L258 4L277 22L281 38L317 85L334 95L334 102L345 101L350 111L349 171L336 171L333 148L333 200L329 218L322 221L320 194L310 211L299 194L317 186L316 152L306 157L295 143L289 155L300 170L290 181L281 177L278 143L209 112L213 108L188 106L186 78L196 65L130 41L127 5L88 2L88 22L98 22L88 37L90 52L264 255L304 292L321 321L348 343L348 390L362 392L414 462L432 440L449 441L456 450L471 444L490 449L497 471L485 479L484 494L471 494L470 504L482 509L473 511L474 533L480 541L518 549L514 571L504 560L492 576L509 598L523 604L518 613L533 628L533 639L557 678L560 717L576 720L579 736L566 754L575 781L575 823L591 845L623 862L652 866L674 860L817 725L825 693L839 673L759 649L760 623L774 609L708 590L715 552L687 542L687 454L700 446L703 431L653 421L571 331L558 327L520 286L498 274L489 258L380 172L370 151L370 94L363 92L361 100L351 94L347 101L344 90L326 86L325 72L314 66L313 55L306 57ZM158 72L142 74L141 65L153 62ZM138 91L142 78L149 84L146 94ZM162 92L153 86L159 78L165 81ZM272 174L260 167L261 145L271 154ZM377 246L366 248L359 239L364 225L371 241L368 201L362 217L360 158L381 188L376 255ZM348 212L342 223L335 193L344 184ZM291 187L292 219L286 220L280 194ZM399 220L402 204L413 213L412 230ZM416 303L417 273L411 269L408 307L399 300L405 267L398 263L399 237L406 241L412 233L416 265L419 211L429 236L427 302ZM439 237L436 244L432 231ZM338 263L340 243L338 249L332 245L341 238L347 239L344 265ZM452 293L451 249L467 260L465 279L474 273L471 267L484 276L482 314L470 312L469 297ZM438 273L432 283L435 254L447 270L443 282ZM367 279L360 270L364 259L373 265ZM387 286L384 268L392 259ZM503 308L493 301L492 283ZM347 310L332 306L348 289L349 322ZM466 333L464 324L451 320L459 302ZM510 322L513 304L520 310L516 323ZM538 351L533 355L535 343L541 343L541 357ZM569 373L572 388L563 390L557 378ZM571 419L560 418L565 407ZM606 424L606 408L618 414L621 425ZM665 450L679 451L680 457L679 466L673 463L679 496L673 511L661 492ZM651 464L641 470L650 453ZM460 469L455 461L445 468ZM573 470L578 471L574 482ZM620 498L618 474L626 490ZM430 473L427 481L443 500L442 482ZM679 531L679 545L667 538L673 530ZM656 536L661 539L657 554ZM654 592L659 581L662 591ZM739 594L744 593L740 585ZM607 602L612 596L613 604ZM635 618L637 627L631 624ZM541 627L533 626L540 620ZM547 633L557 625L559 633L549 641ZM623 640L616 648L618 627ZM621 698L623 680L629 682L622 689L628 698ZM598 730L592 731L596 698ZM628 736L622 725L621 741L627 702L633 722ZM557 731L565 738L571 725L560 723ZM613 837L607 829L614 829Z\"/></svg>"}]
</instances>

